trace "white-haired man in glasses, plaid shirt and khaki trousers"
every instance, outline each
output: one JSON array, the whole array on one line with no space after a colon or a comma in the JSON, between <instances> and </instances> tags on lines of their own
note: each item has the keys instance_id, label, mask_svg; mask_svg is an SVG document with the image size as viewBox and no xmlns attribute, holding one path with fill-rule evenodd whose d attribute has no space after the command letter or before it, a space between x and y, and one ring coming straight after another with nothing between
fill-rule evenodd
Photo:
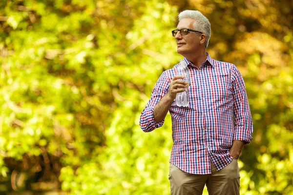
<instances>
[{"instance_id":1,"label":"white-haired man in glasses, plaid shirt and khaki trousers","mask_svg":"<svg viewBox=\"0 0 293 195\"><path fill-rule=\"evenodd\" d=\"M243 78L234 64L211 59L206 48L210 23L199 11L179 14L172 31L177 52L189 69L189 83L175 76L175 65L161 75L141 114L144 132L172 118L173 146L169 181L172 195L239 195L237 159L251 142L252 119ZM178 107L177 93L189 87L188 107Z\"/></svg>"}]
</instances>

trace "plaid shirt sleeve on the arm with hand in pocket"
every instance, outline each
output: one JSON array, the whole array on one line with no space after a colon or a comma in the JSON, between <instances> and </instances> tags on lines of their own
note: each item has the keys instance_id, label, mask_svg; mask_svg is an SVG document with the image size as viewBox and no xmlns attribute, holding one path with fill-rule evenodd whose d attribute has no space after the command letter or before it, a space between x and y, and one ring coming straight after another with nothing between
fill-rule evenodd
<instances>
[{"instance_id":1,"label":"plaid shirt sleeve on the arm with hand in pocket","mask_svg":"<svg viewBox=\"0 0 293 195\"><path fill-rule=\"evenodd\" d=\"M234 99L233 109L235 118L233 140L245 141L245 143L247 144L250 143L252 140L252 117L244 80L235 65L233 65L232 68L232 88Z\"/></svg>"}]
</instances>

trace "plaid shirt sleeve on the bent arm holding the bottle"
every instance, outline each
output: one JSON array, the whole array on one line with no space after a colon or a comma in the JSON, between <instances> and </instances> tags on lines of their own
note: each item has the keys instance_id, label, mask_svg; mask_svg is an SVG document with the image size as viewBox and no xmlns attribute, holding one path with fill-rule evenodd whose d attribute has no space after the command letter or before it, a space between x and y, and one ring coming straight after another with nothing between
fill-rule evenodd
<instances>
[{"instance_id":1,"label":"plaid shirt sleeve on the bent arm holding the bottle","mask_svg":"<svg viewBox=\"0 0 293 195\"><path fill-rule=\"evenodd\" d=\"M146 104L145 109L141 113L140 127L144 132L151 132L156 128L162 127L164 124L165 119L157 123L154 120L153 113L156 104L167 94L169 90L169 84L170 81L167 78L167 74L166 72L163 72L151 92L151 97Z\"/></svg>"}]
</instances>

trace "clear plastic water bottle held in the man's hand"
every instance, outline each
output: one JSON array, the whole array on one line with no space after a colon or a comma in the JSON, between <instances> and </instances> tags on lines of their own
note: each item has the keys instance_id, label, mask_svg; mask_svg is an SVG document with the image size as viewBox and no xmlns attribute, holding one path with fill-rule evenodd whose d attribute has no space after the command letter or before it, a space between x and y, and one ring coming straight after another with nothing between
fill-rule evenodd
<instances>
[{"instance_id":1,"label":"clear plastic water bottle held in the man's hand","mask_svg":"<svg viewBox=\"0 0 293 195\"><path fill-rule=\"evenodd\" d=\"M184 59L182 59L177 66L176 75L183 75L185 82L189 82L189 69ZM188 88L184 92L176 94L176 105L187 107L189 105Z\"/></svg>"}]
</instances>

